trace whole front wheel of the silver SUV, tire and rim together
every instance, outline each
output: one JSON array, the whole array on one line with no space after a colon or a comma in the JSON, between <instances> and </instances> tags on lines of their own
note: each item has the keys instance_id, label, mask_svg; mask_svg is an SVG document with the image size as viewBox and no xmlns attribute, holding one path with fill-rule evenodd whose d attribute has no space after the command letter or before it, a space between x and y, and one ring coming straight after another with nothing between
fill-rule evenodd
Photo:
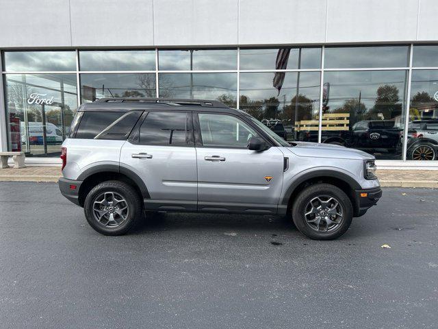
<instances>
[{"instance_id":1,"label":"whole front wheel of the silver SUV, tire and rim together","mask_svg":"<svg viewBox=\"0 0 438 329\"><path fill-rule=\"evenodd\" d=\"M298 194L292 206L296 228L314 240L333 240L342 236L350 227L352 214L346 193L331 184L308 186Z\"/></svg>"}]
</instances>

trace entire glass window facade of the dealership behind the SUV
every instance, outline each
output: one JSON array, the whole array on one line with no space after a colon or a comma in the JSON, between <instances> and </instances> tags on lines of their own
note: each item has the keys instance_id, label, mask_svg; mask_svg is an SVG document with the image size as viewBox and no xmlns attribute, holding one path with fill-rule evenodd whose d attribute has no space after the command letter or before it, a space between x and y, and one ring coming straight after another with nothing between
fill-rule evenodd
<instances>
[{"instance_id":1,"label":"entire glass window facade of the dealership behind the SUV","mask_svg":"<svg viewBox=\"0 0 438 329\"><path fill-rule=\"evenodd\" d=\"M175 97L218 99L289 142L438 159L438 45L1 54L8 147L27 156L59 155L79 103Z\"/></svg>"}]
</instances>

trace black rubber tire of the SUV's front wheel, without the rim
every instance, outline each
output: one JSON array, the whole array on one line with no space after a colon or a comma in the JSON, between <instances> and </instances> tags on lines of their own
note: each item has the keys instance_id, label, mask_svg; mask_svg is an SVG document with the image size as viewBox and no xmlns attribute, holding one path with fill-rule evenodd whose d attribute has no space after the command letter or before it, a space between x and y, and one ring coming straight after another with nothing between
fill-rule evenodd
<instances>
[{"instance_id":1,"label":"black rubber tire of the SUV's front wheel, without the rim","mask_svg":"<svg viewBox=\"0 0 438 329\"><path fill-rule=\"evenodd\" d=\"M305 206L313 197L318 195L329 195L335 197L341 204L344 210L344 219L342 224L331 232L318 232L313 230L305 222ZM348 230L352 221L352 205L350 198L340 188L330 184L315 184L305 188L296 198L292 207L292 219L298 230L305 234L310 239L315 240L332 240L336 239Z\"/></svg>"}]
</instances>

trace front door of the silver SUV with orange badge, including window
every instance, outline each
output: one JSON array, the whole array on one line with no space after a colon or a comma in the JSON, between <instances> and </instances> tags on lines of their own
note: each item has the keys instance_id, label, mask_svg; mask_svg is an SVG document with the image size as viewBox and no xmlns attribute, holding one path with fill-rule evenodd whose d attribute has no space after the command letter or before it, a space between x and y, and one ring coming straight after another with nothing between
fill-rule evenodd
<instances>
[{"instance_id":1,"label":"front door of the silver SUV with orange badge, including window","mask_svg":"<svg viewBox=\"0 0 438 329\"><path fill-rule=\"evenodd\" d=\"M194 114L198 160L198 210L275 213L283 184L278 147L250 151L259 134L231 114Z\"/></svg>"}]
</instances>

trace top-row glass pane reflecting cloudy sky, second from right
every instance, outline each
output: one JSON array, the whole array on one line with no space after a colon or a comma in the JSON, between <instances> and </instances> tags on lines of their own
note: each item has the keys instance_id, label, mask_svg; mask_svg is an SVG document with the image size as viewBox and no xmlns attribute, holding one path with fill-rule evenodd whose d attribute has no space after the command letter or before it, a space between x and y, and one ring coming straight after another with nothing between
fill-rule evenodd
<instances>
[{"instance_id":1,"label":"top-row glass pane reflecting cloudy sky, second from right","mask_svg":"<svg viewBox=\"0 0 438 329\"><path fill-rule=\"evenodd\" d=\"M326 69L405 67L409 65L409 46L326 47Z\"/></svg>"}]
</instances>

